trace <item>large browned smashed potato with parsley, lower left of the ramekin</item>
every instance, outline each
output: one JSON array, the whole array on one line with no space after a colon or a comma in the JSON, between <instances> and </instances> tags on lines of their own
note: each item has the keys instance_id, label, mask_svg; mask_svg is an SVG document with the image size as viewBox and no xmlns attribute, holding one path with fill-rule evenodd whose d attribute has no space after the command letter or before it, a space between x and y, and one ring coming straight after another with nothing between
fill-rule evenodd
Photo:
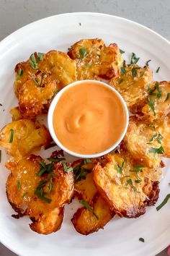
<instances>
[{"instance_id":1,"label":"large browned smashed potato with parsley, lower left of the ramekin","mask_svg":"<svg viewBox=\"0 0 170 256\"><path fill-rule=\"evenodd\" d=\"M61 228L63 206L73 195L73 173L64 171L57 161L53 158L46 164L40 156L30 155L18 163L6 163L12 171L6 182L8 200L17 218L30 216L30 228L40 234Z\"/></svg>"}]
</instances>

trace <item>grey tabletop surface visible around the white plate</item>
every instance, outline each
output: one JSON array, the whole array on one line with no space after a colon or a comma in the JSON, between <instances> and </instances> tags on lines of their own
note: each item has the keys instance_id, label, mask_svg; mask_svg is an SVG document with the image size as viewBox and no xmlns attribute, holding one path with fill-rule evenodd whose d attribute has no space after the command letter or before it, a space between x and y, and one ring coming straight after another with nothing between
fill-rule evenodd
<instances>
[{"instance_id":1,"label":"grey tabletop surface visible around the white plate","mask_svg":"<svg viewBox=\"0 0 170 256\"><path fill-rule=\"evenodd\" d=\"M103 12L125 17L170 40L170 0L0 0L0 40L30 22L64 12ZM0 256L14 255L0 244ZM157 256L166 256L166 250Z\"/></svg>"}]
</instances>

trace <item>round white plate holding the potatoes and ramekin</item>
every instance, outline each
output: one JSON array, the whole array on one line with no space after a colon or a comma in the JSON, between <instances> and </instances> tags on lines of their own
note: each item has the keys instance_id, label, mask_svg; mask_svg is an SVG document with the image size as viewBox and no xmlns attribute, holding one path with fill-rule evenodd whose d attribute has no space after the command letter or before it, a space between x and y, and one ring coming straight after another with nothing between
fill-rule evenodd
<instances>
[{"instance_id":1,"label":"round white plate holding the potatoes and ramekin","mask_svg":"<svg viewBox=\"0 0 170 256\"><path fill-rule=\"evenodd\" d=\"M154 80L169 80L170 44L160 35L135 22L97 13L61 14L39 20L22 27L0 43L0 127L10 121L9 109L15 106L14 66L28 59L34 51L45 52L51 49L67 51L72 43L81 38L102 38L105 43L116 42L126 51L140 56L139 64L148 59L153 69ZM158 67L160 71L156 74ZM3 111L4 110L4 111ZM6 156L3 152L0 172L0 240L12 251L24 256L143 256L156 255L170 244L170 202L156 211L150 207L144 216L137 219L114 218L104 230L89 236L77 233L71 224L73 210L67 206L60 231L42 236L31 231L27 217L16 220L11 217L14 211L6 200L5 183L9 174L3 166ZM170 192L170 172L166 159L164 179L157 205ZM145 243L139 242L139 237Z\"/></svg>"}]
</instances>

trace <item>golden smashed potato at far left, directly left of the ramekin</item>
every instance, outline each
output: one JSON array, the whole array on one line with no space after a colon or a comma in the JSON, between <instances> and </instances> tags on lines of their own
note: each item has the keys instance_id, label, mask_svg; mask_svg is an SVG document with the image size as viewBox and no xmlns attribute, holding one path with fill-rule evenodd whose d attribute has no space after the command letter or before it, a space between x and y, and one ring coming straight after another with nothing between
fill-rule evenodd
<instances>
[{"instance_id":1,"label":"golden smashed potato at far left, directly left of the ramekin","mask_svg":"<svg viewBox=\"0 0 170 256\"><path fill-rule=\"evenodd\" d=\"M51 141L48 129L37 121L20 119L7 124L0 132L0 146L18 161Z\"/></svg>"}]
</instances>

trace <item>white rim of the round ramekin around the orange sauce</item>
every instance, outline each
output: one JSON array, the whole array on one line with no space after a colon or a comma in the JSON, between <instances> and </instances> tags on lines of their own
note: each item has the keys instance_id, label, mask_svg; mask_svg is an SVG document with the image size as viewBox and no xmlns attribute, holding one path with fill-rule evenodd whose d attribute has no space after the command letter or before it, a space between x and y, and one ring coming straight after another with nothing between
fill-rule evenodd
<instances>
[{"instance_id":1,"label":"white rim of the round ramekin around the orange sauce","mask_svg":"<svg viewBox=\"0 0 170 256\"><path fill-rule=\"evenodd\" d=\"M55 135L55 131L53 129L53 112L55 110L55 106L58 103L58 100L61 98L61 95L68 90L69 88L71 88L72 86L75 85L80 85L82 83L86 83L86 82L91 82L93 84L98 84L98 85L104 85L106 88L109 88L109 90L112 90L115 92L115 94L117 95L118 98L120 98L120 101L122 103L122 106L124 108L125 111L125 128L123 129L122 135L120 136L120 138L117 140L117 142L115 142L114 145L112 145L112 147L108 148L107 150L104 150L102 152L96 153L96 154L89 154L89 155L84 155L84 154L80 154L80 153L75 153L72 152L71 150L68 150L68 148L65 148L65 146L63 146L61 144L61 142L58 140L58 137ZM63 88L62 90L60 90L58 92L57 95L55 95L55 97L53 98L53 101L50 104L50 108L48 110L48 129L50 131L50 135L53 138L54 142L58 145L58 147L60 147L62 150L64 150L66 153L79 157L79 158L97 158L99 156L105 155L107 153L109 153L112 150L115 150L115 148L117 148L117 145L120 144L120 142L122 141L123 137L125 136L125 133L127 132L128 129L128 121L129 121L129 114L128 114L128 108L126 106L125 101L123 100L122 96L120 95L120 93L117 92L117 90L115 90L114 88L112 88L110 85L107 85L104 82L99 82L96 80L81 80L81 81L76 81L76 82L72 82L70 85L67 85L65 88Z\"/></svg>"}]
</instances>

